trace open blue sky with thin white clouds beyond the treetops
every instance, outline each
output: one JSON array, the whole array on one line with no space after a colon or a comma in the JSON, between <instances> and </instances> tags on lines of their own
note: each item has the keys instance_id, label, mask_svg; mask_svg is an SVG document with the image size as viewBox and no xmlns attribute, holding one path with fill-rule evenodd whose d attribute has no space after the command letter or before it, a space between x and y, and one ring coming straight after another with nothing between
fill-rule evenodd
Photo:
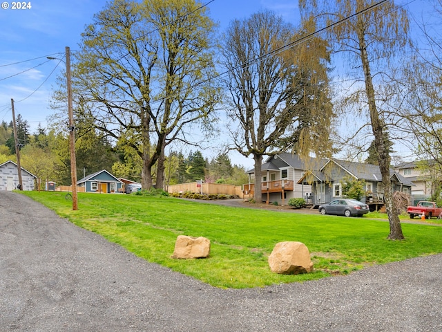
<instances>
[{"instance_id":1,"label":"open blue sky with thin white clouds beyond the treetops","mask_svg":"<svg viewBox=\"0 0 442 332\"><path fill-rule=\"evenodd\" d=\"M202 1L204 3L210 0ZM0 122L10 122L10 100L15 100L15 112L28 120L31 133L47 117L55 79L64 63L46 59L63 56L65 46L76 50L81 33L92 22L93 15L104 7L104 0L35 0L30 9L13 10L12 1L1 1L0 9ZM413 6L416 17L425 17L429 0L396 1ZM208 5L211 17L227 27L233 19L249 17L253 12L270 9L285 21L299 24L298 0L215 0ZM26 61L33 59L32 61ZM58 65L58 67L57 67ZM252 165L249 162L242 165Z\"/></svg>"}]
</instances>

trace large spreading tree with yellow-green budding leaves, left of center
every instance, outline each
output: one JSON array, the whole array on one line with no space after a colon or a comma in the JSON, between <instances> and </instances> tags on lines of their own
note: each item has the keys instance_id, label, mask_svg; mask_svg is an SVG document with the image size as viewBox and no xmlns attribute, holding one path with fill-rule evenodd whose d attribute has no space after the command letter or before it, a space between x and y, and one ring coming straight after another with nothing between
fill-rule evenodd
<instances>
[{"instance_id":1,"label":"large spreading tree with yellow-green budding leaves, left of center","mask_svg":"<svg viewBox=\"0 0 442 332\"><path fill-rule=\"evenodd\" d=\"M133 148L142 187L164 182L165 148L210 125L215 24L195 0L115 0L82 34L73 71L76 116Z\"/></svg>"}]
</instances>

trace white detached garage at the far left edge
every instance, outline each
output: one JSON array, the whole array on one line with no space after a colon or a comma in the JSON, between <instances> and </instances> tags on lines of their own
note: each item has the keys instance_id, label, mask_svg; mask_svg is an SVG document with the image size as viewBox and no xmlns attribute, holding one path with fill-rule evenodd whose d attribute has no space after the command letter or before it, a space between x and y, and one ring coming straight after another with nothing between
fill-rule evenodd
<instances>
[{"instance_id":1,"label":"white detached garage at the far left edge","mask_svg":"<svg viewBox=\"0 0 442 332\"><path fill-rule=\"evenodd\" d=\"M15 190L19 185L19 167L12 160L0 165L0 190ZM37 176L31 174L21 167L21 181L23 190L34 190L34 183Z\"/></svg>"}]
</instances>

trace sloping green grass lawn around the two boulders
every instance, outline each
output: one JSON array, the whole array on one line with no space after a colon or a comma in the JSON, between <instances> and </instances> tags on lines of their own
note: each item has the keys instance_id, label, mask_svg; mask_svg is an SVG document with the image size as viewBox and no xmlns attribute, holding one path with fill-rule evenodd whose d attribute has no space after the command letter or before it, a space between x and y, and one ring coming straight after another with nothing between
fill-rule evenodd
<instances>
[{"instance_id":1,"label":"sloping green grass lawn around the two boulders","mask_svg":"<svg viewBox=\"0 0 442 332\"><path fill-rule=\"evenodd\" d=\"M135 255L220 288L249 288L347 274L364 266L442 252L442 227L403 223L389 241L386 221L230 208L167 196L79 193L72 210L61 192L21 192ZM206 237L208 259L172 259L177 235ZM267 257L280 241L305 243L314 273L271 273Z\"/></svg>"}]
</instances>

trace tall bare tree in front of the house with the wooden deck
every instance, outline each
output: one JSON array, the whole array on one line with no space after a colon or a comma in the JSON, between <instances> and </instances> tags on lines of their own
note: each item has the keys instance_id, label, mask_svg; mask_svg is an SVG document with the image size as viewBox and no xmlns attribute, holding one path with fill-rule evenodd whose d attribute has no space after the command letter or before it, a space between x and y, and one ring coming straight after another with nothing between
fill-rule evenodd
<instances>
[{"instance_id":1,"label":"tall bare tree in front of the house with the wooden deck","mask_svg":"<svg viewBox=\"0 0 442 332\"><path fill-rule=\"evenodd\" d=\"M253 156L257 202L262 201L263 156L307 151L318 136L327 146L332 116L327 44L314 38L295 46L309 29L313 27L306 25L296 32L265 11L233 21L224 37L230 134L234 149Z\"/></svg>"}]
</instances>

